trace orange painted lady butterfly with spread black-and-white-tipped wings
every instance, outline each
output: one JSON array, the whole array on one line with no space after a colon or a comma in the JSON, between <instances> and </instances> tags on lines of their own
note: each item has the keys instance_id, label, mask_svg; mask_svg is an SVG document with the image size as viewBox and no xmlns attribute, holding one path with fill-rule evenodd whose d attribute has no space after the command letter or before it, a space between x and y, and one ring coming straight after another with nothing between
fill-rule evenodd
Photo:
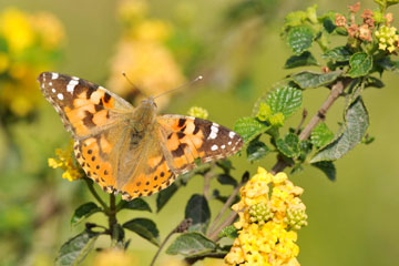
<instances>
[{"instance_id":1,"label":"orange painted lady butterfly with spread black-and-white-tipped wings","mask_svg":"<svg viewBox=\"0 0 399 266\"><path fill-rule=\"evenodd\" d=\"M233 155L235 132L192 116L156 115L154 98L137 108L89 81L52 72L38 78L47 100L74 139L86 175L123 200L149 196L202 163Z\"/></svg>"}]
</instances>

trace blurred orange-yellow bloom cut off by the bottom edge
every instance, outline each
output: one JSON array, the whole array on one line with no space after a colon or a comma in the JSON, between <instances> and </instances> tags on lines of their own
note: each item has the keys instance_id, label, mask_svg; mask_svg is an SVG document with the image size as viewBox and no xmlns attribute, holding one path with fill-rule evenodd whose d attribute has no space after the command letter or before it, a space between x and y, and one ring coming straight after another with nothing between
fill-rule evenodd
<instances>
[{"instance_id":1,"label":"blurred orange-yellow bloom cut off by the bottom edge","mask_svg":"<svg viewBox=\"0 0 399 266\"><path fill-rule=\"evenodd\" d=\"M136 257L121 249L105 249L96 254L95 266L134 266L140 265Z\"/></svg>"}]
</instances>

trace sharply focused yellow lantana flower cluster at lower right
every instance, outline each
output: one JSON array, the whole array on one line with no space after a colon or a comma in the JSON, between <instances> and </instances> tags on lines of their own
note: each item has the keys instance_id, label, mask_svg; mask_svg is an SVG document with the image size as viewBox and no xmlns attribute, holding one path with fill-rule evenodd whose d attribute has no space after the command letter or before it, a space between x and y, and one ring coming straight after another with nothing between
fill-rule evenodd
<instances>
[{"instance_id":1,"label":"sharply focused yellow lantana flower cluster at lower right","mask_svg":"<svg viewBox=\"0 0 399 266\"><path fill-rule=\"evenodd\" d=\"M306 206L285 173L273 175L258 167L257 174L239 191L241 201L233 205L239 221L234 224L238 237L225 257L227 265L299 265L295 244L297 233L307 225Z\"/></svg>"}]
</instances>

